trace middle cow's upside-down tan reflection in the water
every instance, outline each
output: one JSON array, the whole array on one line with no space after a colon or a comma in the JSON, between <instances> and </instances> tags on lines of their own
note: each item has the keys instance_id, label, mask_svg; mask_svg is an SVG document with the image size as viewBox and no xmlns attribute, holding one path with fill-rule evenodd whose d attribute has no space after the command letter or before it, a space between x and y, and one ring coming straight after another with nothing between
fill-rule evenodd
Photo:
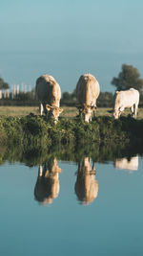
<instances>
[{"instance_id":1,"label":"middle cow's upside-down tan reflection in the water","mask_svg":"<svg viewBox=\"0 0 143 256\"><path fill-rule=\"evenodd\" d=\"M78 164L77 179L75 182L75 193L77 198L84 204L92 202L98 195L98 183L95 179L95 168L90 157L85 157Z\"/></svg>"}]
</instances>

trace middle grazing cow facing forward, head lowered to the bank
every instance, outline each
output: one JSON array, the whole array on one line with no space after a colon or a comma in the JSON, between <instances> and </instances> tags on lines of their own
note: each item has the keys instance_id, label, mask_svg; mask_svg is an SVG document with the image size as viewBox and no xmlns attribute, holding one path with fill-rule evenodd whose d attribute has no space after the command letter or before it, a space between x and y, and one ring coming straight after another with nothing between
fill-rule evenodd
<instances>
[{"instance_id":1,"label":"middle grazing cow facing forward, head lowered to the bank","mask_svg":"<svg viewBox=\"0 0 143 256\"><path fill-rule=\"evenodd\" d=\"M79 115L82 114L85 122L92 121L92 112L95 111L99 93L99 83L90 73L79 78L76 85L76 95L79 103Z\"/></svg>"}]
</instances>

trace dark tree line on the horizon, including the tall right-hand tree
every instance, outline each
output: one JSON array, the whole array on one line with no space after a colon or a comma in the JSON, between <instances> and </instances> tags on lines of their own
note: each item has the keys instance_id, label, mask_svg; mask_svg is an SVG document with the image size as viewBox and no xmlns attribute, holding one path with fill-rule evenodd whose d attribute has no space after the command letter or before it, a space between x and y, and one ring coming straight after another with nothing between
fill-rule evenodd
<instances>
[{"instance_id":1,"label":"dark tree line on the horizon, including the tall right-hand tree","mask_svg":"<svg viewBox=\"0 0 143 256\"><path fill-rule=\"evenodd\" d=\"M113 77L111 83L115 86L115 90L118 91L128 90L132 87L138 90L140 93L140 105L143 106L143 79L140 78L137 68L133 67L133 65L123 64L118 77ZM0 78L0 90L8 88L10 88L8 82ZM61 105L75 106L76 104L75 89L72 93L64 92L62 94ZM38 105L38 102L34 97L34 90L31 90L31 92L26 93L20 92L12 101L2 99L0 100L0 105ZM97 99L97 105L99 107L112 107L112 92L100 92L99 98Z\"/></svg>"}]
</instances>

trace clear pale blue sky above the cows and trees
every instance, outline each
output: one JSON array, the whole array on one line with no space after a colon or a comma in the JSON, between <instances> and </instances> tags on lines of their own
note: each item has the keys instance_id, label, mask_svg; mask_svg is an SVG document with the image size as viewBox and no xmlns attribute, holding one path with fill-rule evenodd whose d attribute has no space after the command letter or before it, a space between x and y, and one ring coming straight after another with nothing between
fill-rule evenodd
<instances>
[{"instance_id":1,"label":"clear pale blue sky above the cows and trees","mask_svg":"<svg viewBox=\"0 0 143 256\"><path fill-rule=\"evenodd\" d=\"M102 91L122 63L143 76L142 0L0 0L0 76L31 83L45 73L63 91L91 72Z\"/></svg>"}]
</instances>

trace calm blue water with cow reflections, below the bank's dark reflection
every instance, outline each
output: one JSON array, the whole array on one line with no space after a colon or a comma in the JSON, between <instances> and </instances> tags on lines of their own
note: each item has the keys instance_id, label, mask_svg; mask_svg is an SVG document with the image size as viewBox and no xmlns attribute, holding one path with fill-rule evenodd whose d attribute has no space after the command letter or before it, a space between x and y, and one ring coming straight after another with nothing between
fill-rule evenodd
<instances>
[{"instance_id":1,"label":"calm blue water with cow reflections, below the bank's dark reflection","mask_svg":"<svg viewBox=\"0 0 143 256\"><path fill-rule=\"evenodd\" d=\"M143 255L143 159L0 167L0 255Z\"/></svg>"}]
</instances>

